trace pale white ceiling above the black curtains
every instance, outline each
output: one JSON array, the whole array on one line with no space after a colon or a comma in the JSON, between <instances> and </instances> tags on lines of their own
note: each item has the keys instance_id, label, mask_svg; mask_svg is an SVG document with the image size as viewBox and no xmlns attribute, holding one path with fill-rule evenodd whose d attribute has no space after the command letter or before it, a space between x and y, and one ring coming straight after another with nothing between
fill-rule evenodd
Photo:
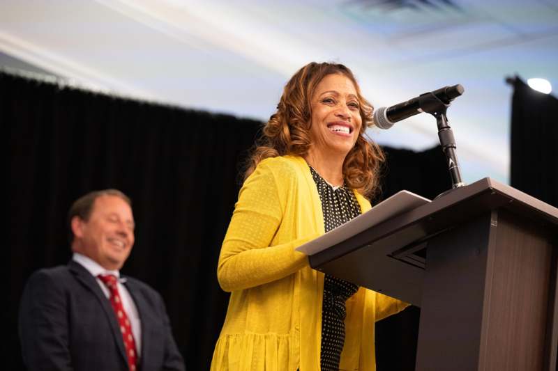
<instances>
[{"instance_id":1,"label":"pale white ceiling above the black curtains","mask_svg":"<svg viewBox=\"0 0 558 371\"><path fill-rule=\"evenodd\" d=\"M464 180L507 182L505 78L558 88L558 1L0 2L0 64L129 97L266 120L310 61L348 65L375 106L462 84L448 118ZM370 135L415 150L437 143L424 113Z\"/></svg>"}]
</instances>

